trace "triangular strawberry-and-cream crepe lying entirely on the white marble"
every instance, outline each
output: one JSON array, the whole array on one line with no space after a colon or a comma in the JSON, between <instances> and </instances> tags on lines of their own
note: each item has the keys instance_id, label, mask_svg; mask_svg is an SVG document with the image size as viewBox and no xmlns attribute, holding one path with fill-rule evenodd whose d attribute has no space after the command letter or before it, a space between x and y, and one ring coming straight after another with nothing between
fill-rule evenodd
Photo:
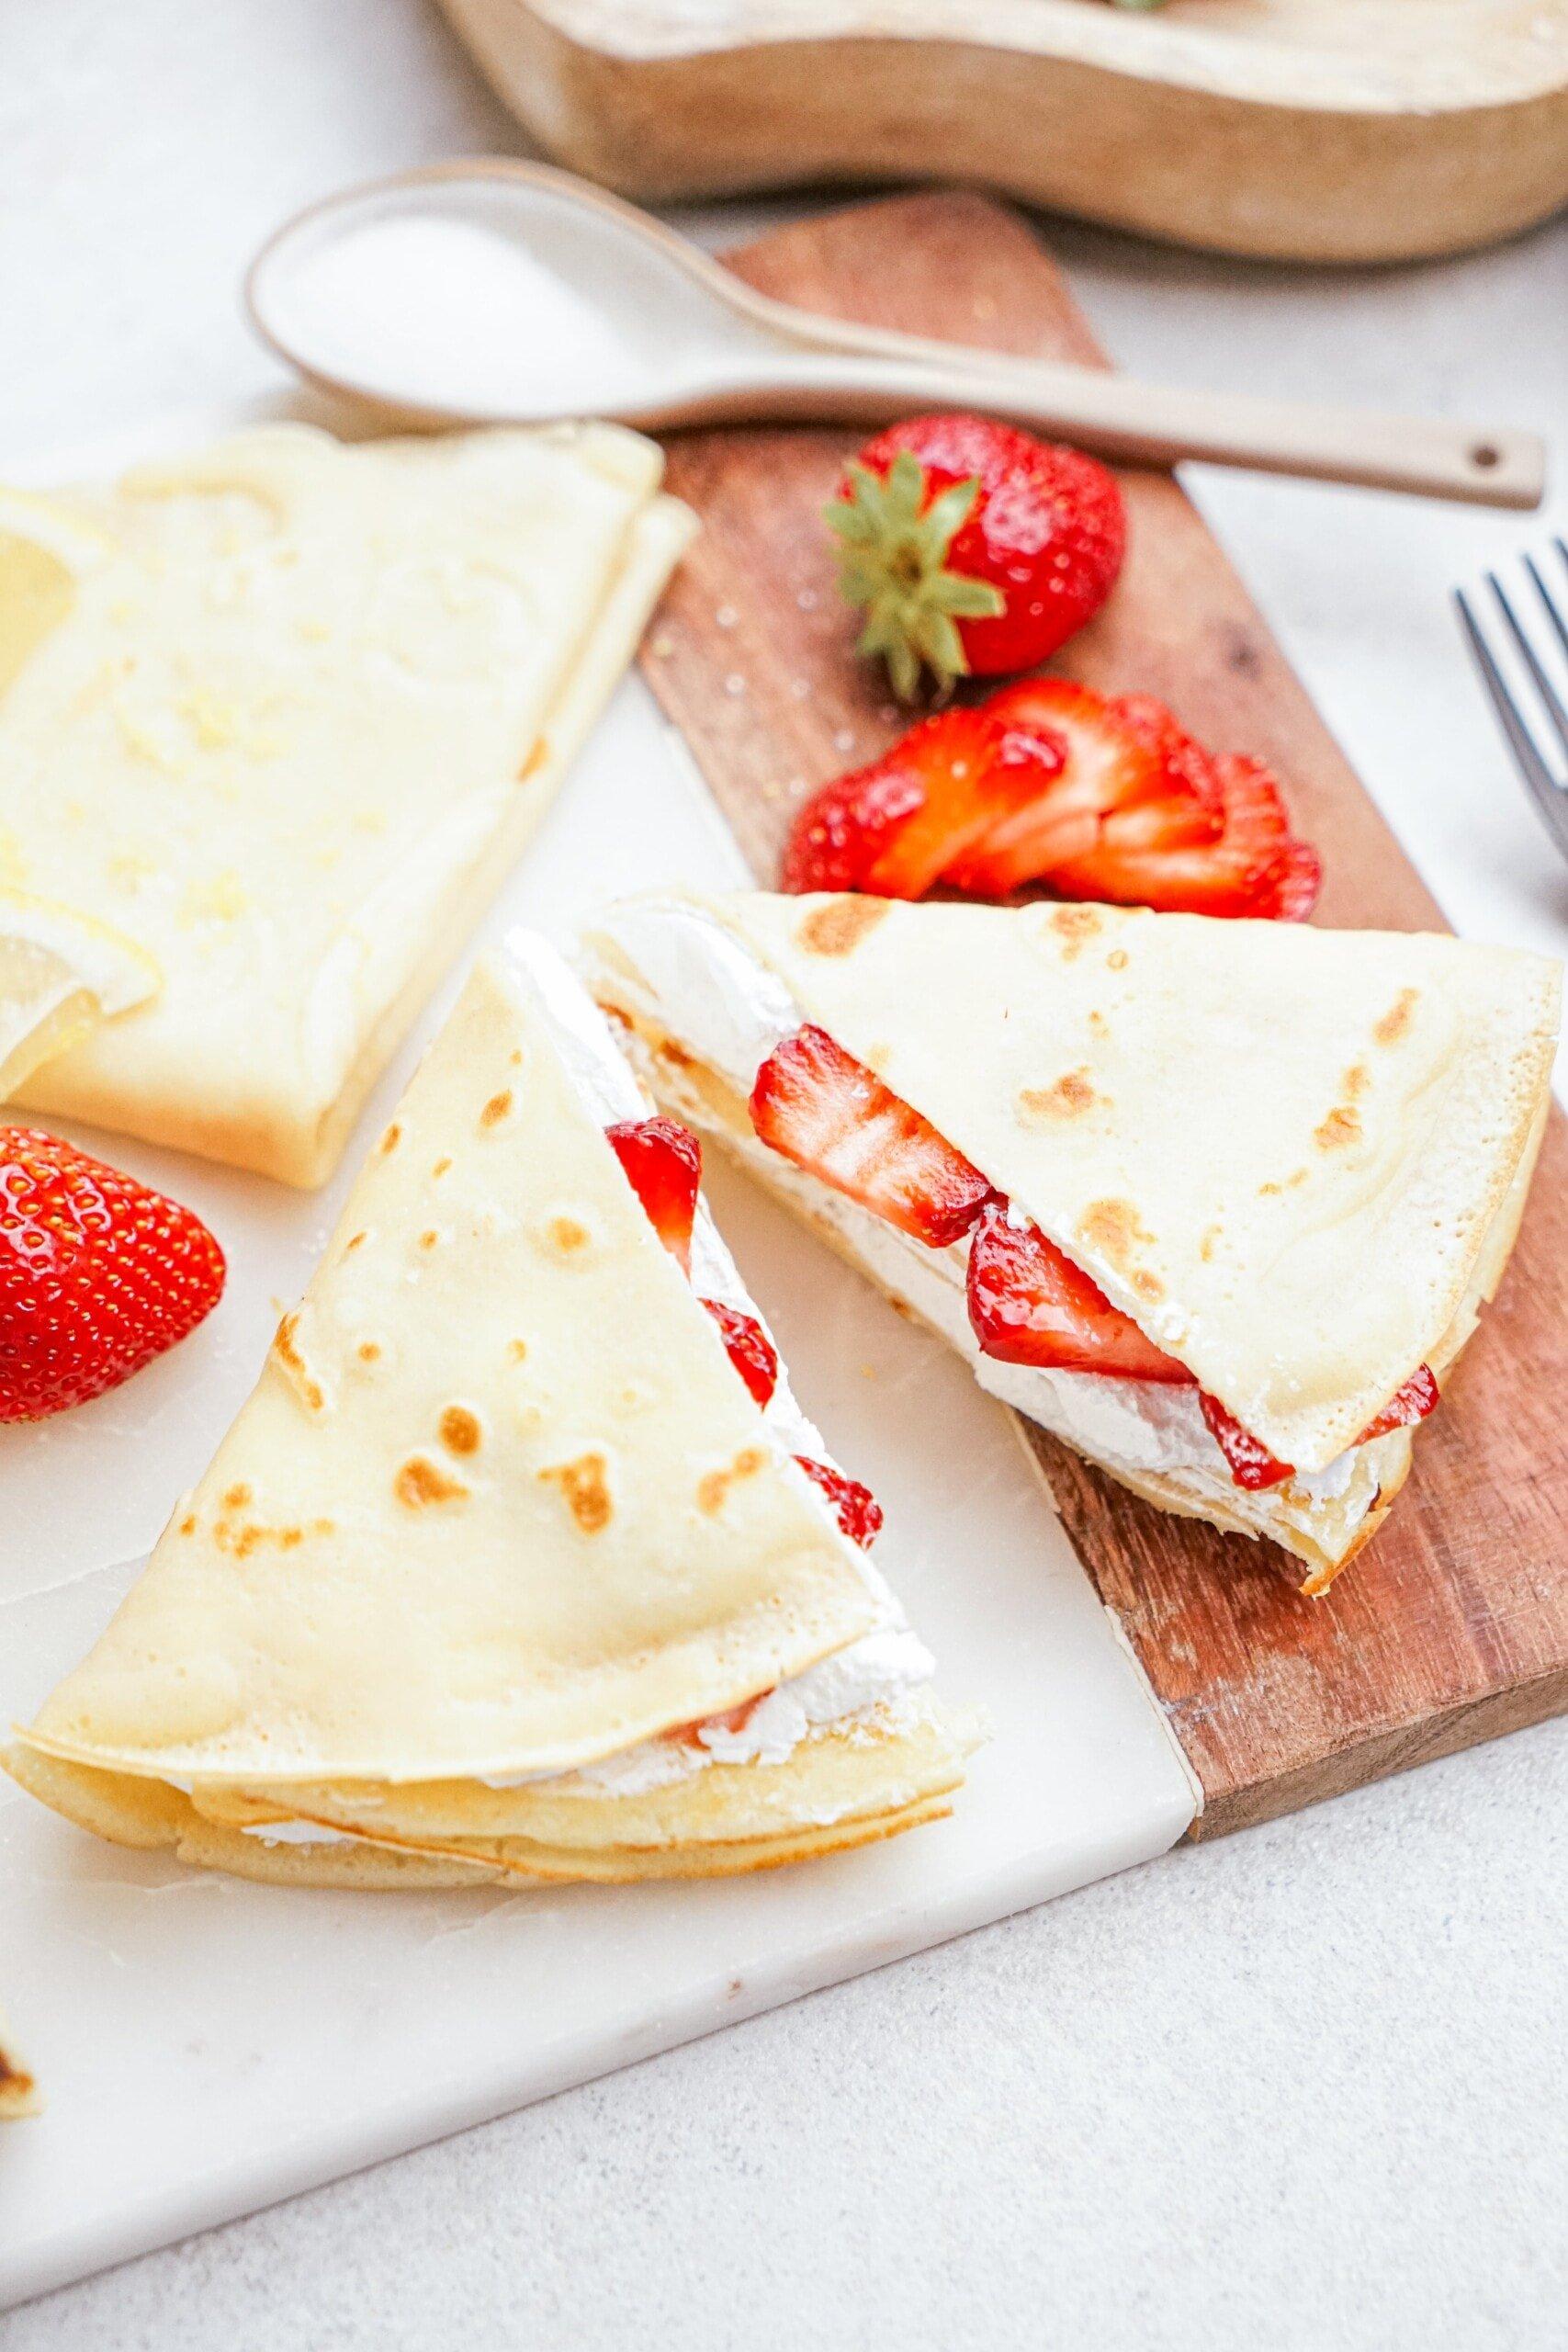
<instances>
[{"instance_id":1,"label":"triangular strawberry-and-cream crepe lying entirely on the white marble","mask_svg":"<svg viewBox=\"0 0 1568 2352\"><path fill-rule=\"evenodd\" d=\"M783 1374L759 1404L736 1369L755 1308L708 1211L686 1275L623 1171L646 1117L512 934L7 1759L24 1788L214 1867L393 1886L750 1870L945 1811L966 1740L844 1534L870 1498Z\"/></svg>"}]
</instances>

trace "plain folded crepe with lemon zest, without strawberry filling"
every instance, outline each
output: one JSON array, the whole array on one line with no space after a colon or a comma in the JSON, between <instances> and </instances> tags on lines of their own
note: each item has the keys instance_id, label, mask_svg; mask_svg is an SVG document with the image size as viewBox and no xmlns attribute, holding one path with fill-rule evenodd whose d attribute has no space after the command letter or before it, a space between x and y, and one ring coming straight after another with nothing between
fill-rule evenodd
<instances>
[{"instance_id":1,"label":"plain folded crepe with lemon zest, without strawberry filling","mask_svg":"<svg viewBox=\"0 0 1568 2352\"><path fill-rule=\"evenodd\" d=\"M266 426L0 492L0 887L155 967L16 1098L322 1183L684 546L658 475L616 426ZM0 889L0 995L7 936Z\"/></svg>"}]
</instances>

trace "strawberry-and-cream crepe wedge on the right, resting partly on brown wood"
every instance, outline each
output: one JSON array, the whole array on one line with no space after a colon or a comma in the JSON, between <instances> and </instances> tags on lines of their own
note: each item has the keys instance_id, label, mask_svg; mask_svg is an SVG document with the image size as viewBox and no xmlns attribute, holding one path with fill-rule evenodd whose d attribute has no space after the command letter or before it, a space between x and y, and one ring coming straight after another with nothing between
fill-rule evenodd
<instances>
[{"instance_id":1,"label":"strawberry-and-cream crepe wedge on the right, resting partly on brown wood","mask_svg":"<svg viewBox=\"0 0 1568 2352\"><path fill-rule=\"evenodd\" d=\"M1312 1590L1382 1519L1497 1287L1559 1018L1535 955L1095 906L656 894L588 962L656 1094L994 1395L1150 1501L1272 1536ZM961 1155L978 1190L940 1247L867 1207L849 1120L820 1150L780 1148L769 1110L759 1134L759 1073L802 1028ZM1140 1376L1063 1367L1039 1322L992 1352L1013 1338L985 1282L1025 1247Z\"/></svg>"}]
</instances>

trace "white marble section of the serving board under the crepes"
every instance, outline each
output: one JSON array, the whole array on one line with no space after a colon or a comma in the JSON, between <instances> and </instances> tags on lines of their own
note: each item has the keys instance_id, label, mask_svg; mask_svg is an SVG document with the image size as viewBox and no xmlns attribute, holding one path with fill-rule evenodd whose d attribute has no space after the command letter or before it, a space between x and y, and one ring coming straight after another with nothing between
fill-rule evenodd
<instances>
[{"instance_id":1,"label":"white marble section of the serving board under the crepes","mask_svg":"<svg viewBox=\"0 0 1568 2352\"><path fill-rule=\"evenodd\" d=\"M484 936L522 920L564 941L604 896L665 880L745 873L628 680ZM87 1649L205 1468L360 1157L310 1197L85 1141L209 1218L230 1284L118 1395L0 1430L0 1722ZM710 1197L806 1411L886 1508L879 1559L943 1689L990 1710L952 1820L733 1882L334 1896L99 1844L0 1783L0 1999L47 2091L0 2133L0 2305L1147 1860L1190 1825L1180 1752L1011 1418L741 1178L710 1171Z\"/></svg>"}]
</instances>

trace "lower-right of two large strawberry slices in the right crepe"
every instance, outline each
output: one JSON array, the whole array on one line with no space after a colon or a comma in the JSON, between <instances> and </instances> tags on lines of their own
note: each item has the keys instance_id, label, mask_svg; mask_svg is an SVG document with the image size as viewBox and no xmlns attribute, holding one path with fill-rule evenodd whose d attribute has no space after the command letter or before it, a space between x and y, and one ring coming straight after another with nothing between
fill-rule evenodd
<instances>
[{"instance_id":1,"label":"lower-right of two large strawberry slices in the right crepe","mask_svg":"<svg viewBox=\"0 0 1568 2352\"><path fill-rule=\"evenodd\" d=\"M1192 1383L1187 1367L1145 1338L1039 1225L1009 1223L999 1200L983 1211L969 1251L969 1322L999 1364Z\"/></svg>"}]
</instances>

